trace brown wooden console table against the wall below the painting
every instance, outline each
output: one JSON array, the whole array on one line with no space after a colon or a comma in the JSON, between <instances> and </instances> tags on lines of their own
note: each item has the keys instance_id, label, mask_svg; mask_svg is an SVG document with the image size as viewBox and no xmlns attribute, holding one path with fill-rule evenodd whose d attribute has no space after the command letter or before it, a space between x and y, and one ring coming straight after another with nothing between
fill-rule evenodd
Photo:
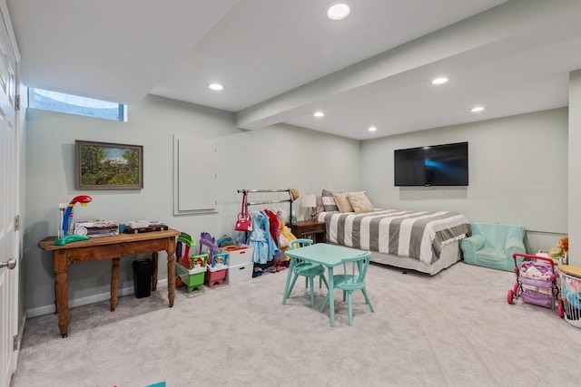
<instances>
[{"instance_id":1,"label":"brown wooden console table against the wall below the painting","mask_svg":"<svg viewBox=\"0 0 581 387\"><path fill-rule=\"evenodd\" d=\"M67 270L71 264L80 262L113 259L111 270L111 311L117 306L119 290L119 262L123 256L153 253L152 289L157 287L158 251L167 252L167 292L170 307L175 297L175 237L180 232L170 228L165 231L153 231L142 234L120 234L113 237L94 237L89 240L72 242L63 246L54 245L54 237L45 237L38 242L38 247L52 251L54 258L54 297L58 328L66 337L69 330L69 301Z\"/></svg>"}]
</instances>

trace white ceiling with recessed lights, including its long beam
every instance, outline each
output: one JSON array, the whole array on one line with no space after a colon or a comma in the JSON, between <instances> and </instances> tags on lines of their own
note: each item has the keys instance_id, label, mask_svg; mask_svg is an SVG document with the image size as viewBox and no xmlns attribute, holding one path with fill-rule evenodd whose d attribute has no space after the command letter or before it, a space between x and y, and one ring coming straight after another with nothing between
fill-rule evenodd
<instances>
[{"instance_id":1,"label":"white ceiling with recessed lights, including its long beam","mask_svg":"<svg viewBox=\"0 0 581 387\"><path fill-rule=\"evenodd\" d=\"M325 16L330 0L6 2L26 86L128 104L152 93L248 130L365 140L553 109L581 69L578 0L346 0L342 21Z\"/></svg>"}]
</instances>

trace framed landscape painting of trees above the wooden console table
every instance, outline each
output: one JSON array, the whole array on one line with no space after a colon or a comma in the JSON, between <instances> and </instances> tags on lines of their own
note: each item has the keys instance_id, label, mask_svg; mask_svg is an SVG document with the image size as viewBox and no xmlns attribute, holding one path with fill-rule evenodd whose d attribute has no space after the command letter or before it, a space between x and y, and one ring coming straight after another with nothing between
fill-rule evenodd
<instances>
[{"instance_id":1,"label":"framed landscape painting of trees above the wooden console table","mask_svg":"<svg viewBox=\"0 0 581 387\"><path fill-rule=\"evenodd\" d=\"M143 189L143 146L74 141L76 189Z\"/></svg>"}]
</instances>

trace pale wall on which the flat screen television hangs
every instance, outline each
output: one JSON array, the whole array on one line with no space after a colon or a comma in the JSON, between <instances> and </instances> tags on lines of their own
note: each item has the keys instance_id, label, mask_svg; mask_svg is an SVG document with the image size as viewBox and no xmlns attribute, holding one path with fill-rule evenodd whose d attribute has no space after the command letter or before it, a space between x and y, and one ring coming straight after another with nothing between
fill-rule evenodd
<instances>
[{"instance_id":1,"label":"pale wall on which the flat screen television hangs","mask_svg":"<svg viewBox=\"0 0 581 387\"><path fill-rule=\"evenodd\" d=\"M567 109L418 131L361 145L362 186L377 207L448 209L527 228L527 250L567 233ZM398 188L393 151L468 141L467 188Z\"/></svg>"}]
</instances>

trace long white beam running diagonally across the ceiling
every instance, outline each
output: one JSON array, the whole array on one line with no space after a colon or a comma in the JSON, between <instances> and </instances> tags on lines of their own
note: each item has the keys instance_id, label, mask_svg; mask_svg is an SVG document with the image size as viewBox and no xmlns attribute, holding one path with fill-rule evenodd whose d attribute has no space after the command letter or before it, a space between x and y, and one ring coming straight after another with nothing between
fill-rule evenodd
<instances>
[{"instance_id":1,"label":"long white beam running diagonally across the ceiling","mask_svg":"<svg viewBox=\"0 0 581 387\"><path fill-rule=\"evenodd\" d=\"M579 29L575 25L581 24L571 27L561 22L579 20L579 15L581 2L577 0L512 0L238 111L235 124L246 130L268 127L312 114L331 102L369 98L386 90L386 86L399 88L409 82L427 82L426 77L438 75L428 73L429 69L452 72L459 66L494 61L574 37Z\"/></svg>"}]
</instances>

